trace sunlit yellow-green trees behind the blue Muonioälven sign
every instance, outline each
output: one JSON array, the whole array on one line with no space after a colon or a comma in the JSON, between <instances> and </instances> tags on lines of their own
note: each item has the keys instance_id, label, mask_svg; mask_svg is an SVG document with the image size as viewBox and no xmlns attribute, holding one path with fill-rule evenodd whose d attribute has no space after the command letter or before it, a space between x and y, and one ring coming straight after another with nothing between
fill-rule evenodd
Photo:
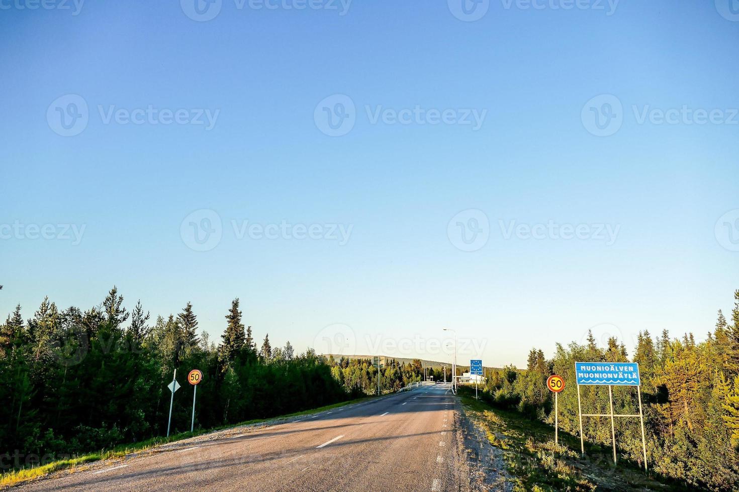
<instances>
[{"instance_id":1,"label":"sunlit yellow-green trees behind the blue Muonio\u00e4lven sign","mask_svg":"<svg viewBox=\"0 0 739 492\"><path fill-rule=\"evenodd\" d=\"M515 409L554 425L554 400L546 381L565 379L559 394L559 428L579 435L575 362L638 362L651 470L711 490L739 490L739 291L731 320L721 311L704 342L692 333L680 339L662 330L638 335L633 356L615 337L599 347L592 333L585 344L556 345L551 359L532 349L525 370L506 366L487 379L482 395L488 403ZM580 387L582 412L610 413L607 387ZM613 387L613 410L638 414L636 389ZM611 446L610 419L583 418L585 440ZM621 457L641 465L638 418L616 419Z\"/></svg>"}]
</instances>

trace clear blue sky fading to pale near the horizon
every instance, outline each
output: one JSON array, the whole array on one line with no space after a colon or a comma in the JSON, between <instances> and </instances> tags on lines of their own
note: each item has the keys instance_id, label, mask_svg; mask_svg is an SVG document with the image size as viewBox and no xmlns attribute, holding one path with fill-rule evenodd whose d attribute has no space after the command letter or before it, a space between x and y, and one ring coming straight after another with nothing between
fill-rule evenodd
<instances>
[{"instance_id":1,"label":"clear blue sky fading to pale near the horizon","mask_svg":"<svg viewBox=\"0 0 739 492\"><path fill-rule=\"evenodd\" d=\"M456 18L454 0L355 0L345 15L339 2L222 0L210 21L185 15L187 0L87 1L78 15L24 1L0 10L0 224L85 229L79 244L0 239L2 316L20 302L29 317L44 295L89 308L115 284L153 316L191 301L213 339L240 297L245 323L273 344L304 350L344 324L365 353L368 334L428 341L450 327L484 347L460 360L502 365L593 326L615 325L605 331L629 347L643 329L703 339L732 306L739 252L715 224L739 209L739 21L713 1L624 0L607 15L607 2L492 0L477 21ZM52 123L74 109L54 104L67 94L88 106L74 136ZM355 104L343 136L321 131L316 106L333 94ZM609 136L587 121L601 94L622 105ZM111 106L149 105L219 113L209 130L106 123ZM477 130L373 122L378 106L417 105L487 112ZM734 124L639 122L647 106L684 105ZM222 221L205 252L180 231L200 209ZM448 234L467 209L489 221L471 252ZM247 220L353 229L344 245L239 239L231 221ZM505 239L499 221L620 229L613 244ZM388 355L446 358L433 352Z\"/></svg>"}]
</instances>

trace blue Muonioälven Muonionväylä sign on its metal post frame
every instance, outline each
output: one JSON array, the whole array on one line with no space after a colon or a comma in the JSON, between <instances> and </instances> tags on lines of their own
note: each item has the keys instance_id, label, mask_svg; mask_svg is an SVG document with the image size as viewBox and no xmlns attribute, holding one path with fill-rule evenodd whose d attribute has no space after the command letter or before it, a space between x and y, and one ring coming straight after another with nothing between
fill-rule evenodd
<instances>
[{"instance_id":1,"label":"blue Muonio\u00e4lven Muonionv\u00e4yl\u00e4 sign on its metal post frame","mask_svg":"<svg viewBox=\"0 0 739 492\"><path fill-rule=\"evenodd\" d=\"M615 417L639 417L641 422L641 451L644 452L644 470L647 470L647 439L644 436L644 412L641 409L641 378L639 364L636 362L575 362L577 380L577 412L580 420L580 451L585 454L585 436L582 432L582 417L610 417L610 433L613 440L613 463L616 464L616 420ZM607 386L610 413L584 414L580 401L580 385ZM613 387L636 386L639 412L638 414L613 413Z\"/></svg>"}]
</instances>

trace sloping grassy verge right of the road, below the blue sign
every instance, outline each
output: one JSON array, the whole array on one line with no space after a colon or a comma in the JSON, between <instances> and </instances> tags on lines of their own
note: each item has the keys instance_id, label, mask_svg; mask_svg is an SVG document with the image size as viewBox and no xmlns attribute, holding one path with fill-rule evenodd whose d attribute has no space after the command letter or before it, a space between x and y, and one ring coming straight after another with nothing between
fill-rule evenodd
<instances>
[{"instance_id":1,"label":"sloping grassy verge right of the road, below the blue sign","mask_svg":"<svg viewBox=\"0 0 739 492\"><path fill-rule=\"evenodd\" d=\"M477 401L469 388L460 387L459 395L466 413L486 432L490 444L503 453L516 492L689 490L645 474L636 463L619 460L619 465L613 466L610 448L586 444L581 457L578 436L560 431L555 444L552 426Z\"/></svg>"}]
</instances>

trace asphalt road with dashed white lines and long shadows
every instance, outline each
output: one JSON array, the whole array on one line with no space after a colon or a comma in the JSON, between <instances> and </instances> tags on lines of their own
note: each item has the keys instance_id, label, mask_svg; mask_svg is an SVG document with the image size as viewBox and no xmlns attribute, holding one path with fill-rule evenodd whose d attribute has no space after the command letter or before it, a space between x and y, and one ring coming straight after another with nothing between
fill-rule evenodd
<instances>
[{"instance_id":1,"label":"asphalt road with dashed white lines and long shadows","mask_svg":"<svg viewBox=\"0 0 739 492\"><path fill-rule=\"evenodd\" d=\"M467 491L446 385L234 428L95 463L21 491Z\"/></svg>"}]
</instances>

